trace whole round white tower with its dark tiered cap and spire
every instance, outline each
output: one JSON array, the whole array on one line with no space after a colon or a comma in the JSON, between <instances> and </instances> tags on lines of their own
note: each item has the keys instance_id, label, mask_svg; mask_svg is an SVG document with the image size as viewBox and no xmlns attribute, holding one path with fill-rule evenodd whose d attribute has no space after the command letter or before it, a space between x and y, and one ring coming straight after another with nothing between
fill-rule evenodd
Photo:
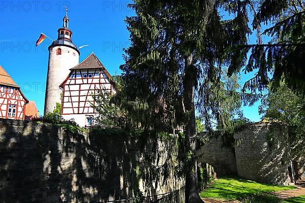
<instances>
[{"instance_id":1,"label":"whole round white tower with its dark tiered cap and spire","mask_svg":"<svg viewBox=\"0 0 305 203\"><path fill-rule=\"evenodd\" d=\"M58 29L58 38L49 46L49 65L46 84L44 114L53 112L56 103L61 104L62 90L59 85L66 79L70 69L79 63L79 51L72 43L69 18L64 17L63 27Z\"/></svg>"}]
</instances>

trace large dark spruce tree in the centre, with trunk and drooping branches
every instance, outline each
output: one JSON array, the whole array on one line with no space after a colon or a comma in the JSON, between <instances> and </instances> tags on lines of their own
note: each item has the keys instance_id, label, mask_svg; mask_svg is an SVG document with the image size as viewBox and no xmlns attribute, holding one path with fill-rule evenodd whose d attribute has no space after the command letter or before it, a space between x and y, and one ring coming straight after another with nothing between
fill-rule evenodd
<instances>
[{"instance_id":1,"label":"large dark spruce tree in the centre, with trunk and drooping branches","mask_svg":"<svg viewBox=\"0 0 305 203\"><path fill-rule=\"evenodd\" d=\"M126 50L121 106L141 126L184 126L186 202L202 202L195 158L195 106L205 128L231 128L221 90L227 50L246 45L251 33L245 1L134 1L127 17L131 47ZM220 9L231 14L223 20ZM221 105L222 104L222 105Z\"/></svg>"}]
</instances>

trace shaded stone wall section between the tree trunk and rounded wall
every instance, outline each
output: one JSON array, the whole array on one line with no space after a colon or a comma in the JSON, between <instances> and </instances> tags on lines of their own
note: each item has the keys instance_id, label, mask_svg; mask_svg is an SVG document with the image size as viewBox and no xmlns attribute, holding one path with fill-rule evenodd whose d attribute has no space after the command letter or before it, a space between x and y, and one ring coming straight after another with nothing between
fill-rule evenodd
<instances>
[{"instance_id":1,"label":"shaded stone wall section between the tree trunk and rounded wall","mask_svg":"<svg viewBox=\"0 0 305 203\"><path fill-rule=\"evenodd\" d=\"M203 135L202 139L207 138ZM222 138L212 138L205 142L197 151L198 161L212 165L217 175L237 174L234 148L224 146Z\"/></svg>"}]
</instances>

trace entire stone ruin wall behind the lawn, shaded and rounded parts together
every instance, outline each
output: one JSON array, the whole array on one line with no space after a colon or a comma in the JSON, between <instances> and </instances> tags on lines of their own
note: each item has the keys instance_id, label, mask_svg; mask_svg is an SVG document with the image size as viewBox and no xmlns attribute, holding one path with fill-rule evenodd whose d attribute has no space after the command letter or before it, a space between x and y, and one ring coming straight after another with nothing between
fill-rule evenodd
<instances>
[{"instance_id":1,"label":"entire stone ruin wall behind the lawn, shaded and rounded parts together","mask_svg":"<svg viewBox=\"0 0 305 203\"><path fill-rule=\"evenodd\" d=\"M236 174L269 184L293 183L286 125L276 122L247 124L234 135L234 139L237 144L233 148L225 147L221 138L210 139L197 151L198 160L211 164L218 175ZM301 161L299 166L303 172Z\"/></svg>"}]
</instances>

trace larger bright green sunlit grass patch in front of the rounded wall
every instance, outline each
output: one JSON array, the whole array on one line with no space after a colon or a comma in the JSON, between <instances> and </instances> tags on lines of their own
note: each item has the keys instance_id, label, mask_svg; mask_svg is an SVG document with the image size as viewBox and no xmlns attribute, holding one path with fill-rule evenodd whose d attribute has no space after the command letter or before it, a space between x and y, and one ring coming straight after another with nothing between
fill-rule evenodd
<instances>
[{"instance_id":1,"label":"larger bright green sunlit grass patch in front of the rounded wall","mask_svg":"<svg viewBox=\"0 0 305 203\"><path fill-rule=\"evenodd\" d=\"M295 187L293 186L268 185L239 178L220 178L215 180L211 186L201 192L200 197L235 200L255 196L257 194L294 188Z\"/></svg>"}]
</instances>

